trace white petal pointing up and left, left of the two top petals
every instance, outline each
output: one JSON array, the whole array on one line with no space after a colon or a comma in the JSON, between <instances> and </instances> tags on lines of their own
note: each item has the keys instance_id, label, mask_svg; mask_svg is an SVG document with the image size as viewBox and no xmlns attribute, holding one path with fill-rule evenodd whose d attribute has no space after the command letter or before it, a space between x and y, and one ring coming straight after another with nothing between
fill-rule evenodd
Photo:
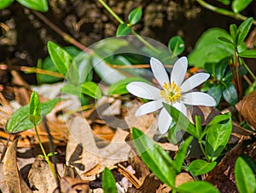
<instances>
[{"instance_id":1,"label":"white petal pointing up and left, left of the two top petals","mask_svg":"<svg viewBox=\"0 0 256 193\"><path fill-rule=\"evenodd\" d=\"M151 58L150 59L151 69L153 71L154 77L159 82L160 86L163 86L164 83L170 82L169 77L167 75L166 69L160 60Z\"/></svg>"}]
</instances>

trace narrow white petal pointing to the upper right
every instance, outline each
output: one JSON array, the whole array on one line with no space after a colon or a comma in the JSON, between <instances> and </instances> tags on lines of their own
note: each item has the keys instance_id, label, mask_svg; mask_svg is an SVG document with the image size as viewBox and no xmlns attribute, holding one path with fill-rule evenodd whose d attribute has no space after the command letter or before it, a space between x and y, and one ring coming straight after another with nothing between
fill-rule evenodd
<instances>
[{"instance_id":1,"label":"narrow white petal pointing to the upper right","mask_svg":"<svg viewBox=\"0 0 256 193\"><path fill-rule=\"evenodd\" d=\"M201 85L202 82L205 82L210 77L207 73L198 73L189 77L183 84L181 85L181 89L183 93L188 92L189 90Z\"/></svg>"}]
</instances>

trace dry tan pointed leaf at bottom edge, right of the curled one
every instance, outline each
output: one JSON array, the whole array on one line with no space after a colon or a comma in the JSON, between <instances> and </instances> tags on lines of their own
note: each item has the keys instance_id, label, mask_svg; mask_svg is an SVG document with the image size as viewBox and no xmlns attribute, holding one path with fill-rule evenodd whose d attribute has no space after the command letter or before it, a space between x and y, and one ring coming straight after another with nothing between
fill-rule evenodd
<instances>
[{"instance_id":1,"label":"dry tan pointed leaf at bottom edge, right of the curled one","mask_svg":"<svg viewBox=\"0 0 256 193\"><path fill-rule=\"evenodd\" d=\"M30 187L38 190L38 192L51 193L57 186L55 177L42 156L36 157L36 160L33 162L32 168L28 173L27 179Z\"/></svg>"}]
</instances>

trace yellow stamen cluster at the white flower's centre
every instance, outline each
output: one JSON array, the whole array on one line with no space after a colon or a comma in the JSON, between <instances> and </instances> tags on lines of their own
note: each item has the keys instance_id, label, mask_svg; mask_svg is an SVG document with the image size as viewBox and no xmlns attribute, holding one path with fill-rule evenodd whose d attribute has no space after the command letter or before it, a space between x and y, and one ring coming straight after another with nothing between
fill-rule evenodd
<instances>
[{"instance_id":1,"label":"yellow stamen cluster at the white flower's centre","mask_svg":"<svg viewBox=\"0 0 256 193\"><path fill-rule=\"evenodd\" d=\"M162 87L164 90L161 90L160 94L168 103L172 103L181 98L181 89L175 84L175 82L165 82Z\"/></svg>"}]
</instances>

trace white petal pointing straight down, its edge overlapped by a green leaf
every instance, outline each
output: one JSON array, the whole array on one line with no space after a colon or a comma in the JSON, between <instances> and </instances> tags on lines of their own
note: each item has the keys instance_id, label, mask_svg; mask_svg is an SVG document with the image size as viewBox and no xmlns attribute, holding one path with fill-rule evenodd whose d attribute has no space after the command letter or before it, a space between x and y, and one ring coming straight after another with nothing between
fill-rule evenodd
<instances>
[{"instance_id":1,"label":"white petal pointing straight down, its edge overlapped by a green leaf","mask_svg":"<svg viewBox=\"0 0 256 193\"><path fill-rule=\"evenodd\" d=\"M164 134L168 131L172 123L172 116L163 108L160 111L160 115L158 117L158 128L160 133Z\"/></svg>"}]
</instances>

